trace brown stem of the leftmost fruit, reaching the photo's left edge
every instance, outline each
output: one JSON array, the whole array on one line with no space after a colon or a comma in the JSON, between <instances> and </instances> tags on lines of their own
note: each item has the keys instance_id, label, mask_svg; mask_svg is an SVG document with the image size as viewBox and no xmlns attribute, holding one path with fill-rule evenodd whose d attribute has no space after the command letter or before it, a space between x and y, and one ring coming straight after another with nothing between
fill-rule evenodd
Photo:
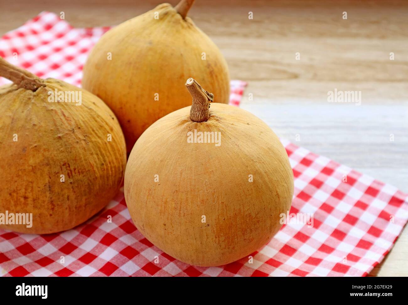
<instances>
[{"instance_id":1,"label":"brown stem of the leftmost fruit, reaching the photo's left edge","mask_svg":"<svg viewBox=\"0 0 408 305\"><path fill-rule=\"evenodd\" d=\"M42 79L27 70L20 69L0 57L0 76L11 80L18 88L35 91L45 86Z\"/></svg>"}]
</instances>

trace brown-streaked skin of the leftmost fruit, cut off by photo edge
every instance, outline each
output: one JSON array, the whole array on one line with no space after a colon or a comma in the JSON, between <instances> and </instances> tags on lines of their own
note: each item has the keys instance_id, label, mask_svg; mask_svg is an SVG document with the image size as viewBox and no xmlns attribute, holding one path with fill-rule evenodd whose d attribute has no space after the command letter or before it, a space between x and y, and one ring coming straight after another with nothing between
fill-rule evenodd
<instances>
[{"instance_id":1,"label":"brown-streaked skin of the leftmost fruit, cut off by photo edge","mask_svg":"<svg viewBox=\"0 0 408 305\"><path fill-rule=\"evenodd\" d=\"M119 191L126 166L122 130L103 101L63 81L42 81L46 86L35 92L0 87L0 213L33 213L31 228L0 228L21 233L55 233L85 222ZM55 88L82 90L82 105L50 103L48 91Z\"/></svg>"}]
</instances>

